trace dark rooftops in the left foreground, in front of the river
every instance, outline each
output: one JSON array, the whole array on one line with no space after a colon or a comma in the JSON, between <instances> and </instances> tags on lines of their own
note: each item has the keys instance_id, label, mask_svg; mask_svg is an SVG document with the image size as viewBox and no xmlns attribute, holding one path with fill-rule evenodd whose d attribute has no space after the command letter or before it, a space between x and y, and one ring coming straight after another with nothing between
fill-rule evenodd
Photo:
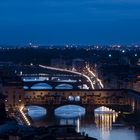
<instances>
[{"instance_id":1,"label":"dark rooftops in the left foreground, in front of the river","mask_svg":"<svg viewBox=\"0 0 140 140\"><path fill-rule=\"evenodd\" d=\"M16 121L6 121L0 125L0 140L97 140L85 133L76 132L74 125L53 125L31 127L19 125Z\"/></svg>"}]
</instances>

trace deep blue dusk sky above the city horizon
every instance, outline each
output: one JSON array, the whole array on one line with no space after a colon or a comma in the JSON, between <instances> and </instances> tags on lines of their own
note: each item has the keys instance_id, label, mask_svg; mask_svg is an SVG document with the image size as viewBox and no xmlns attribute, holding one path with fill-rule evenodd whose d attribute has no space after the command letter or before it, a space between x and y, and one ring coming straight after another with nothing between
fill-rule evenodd
<instances>
[{"instance_id":1,"label":"deep blue dusk sky above the city horizon","mask_svg":"<svg viewBox=\"0 0 140 140\"><path fill-rule=\"evenodd\" d=\"M140 44L140 0L0 0L0 44Z\"/></svg>"}]
</instances>

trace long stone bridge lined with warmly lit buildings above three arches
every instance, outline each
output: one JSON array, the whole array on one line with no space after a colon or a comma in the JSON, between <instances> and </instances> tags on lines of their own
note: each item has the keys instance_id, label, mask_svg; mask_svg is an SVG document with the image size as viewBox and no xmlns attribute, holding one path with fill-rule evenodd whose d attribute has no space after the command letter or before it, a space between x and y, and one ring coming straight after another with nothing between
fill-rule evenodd
<instances>
[{"instance_id":1,"label":"long stone bridge lined with warmly lit buildings above three arches","mask_svg":"<svg viewBox=\"0 0 140 140\"><path fill-rule=\"evenodd\" d=\"M87 113L106 106L116 111L140 111L140 100L135 101L136 94L129 90L54 90L54 91L26 91L25 105L39 105L47 108L48 112L64 105L79 105L86 109ZM131 96L131 97L130 97ZM70 100L70 97L79 97L79 100Z\"/></svg>"}]
</instances>

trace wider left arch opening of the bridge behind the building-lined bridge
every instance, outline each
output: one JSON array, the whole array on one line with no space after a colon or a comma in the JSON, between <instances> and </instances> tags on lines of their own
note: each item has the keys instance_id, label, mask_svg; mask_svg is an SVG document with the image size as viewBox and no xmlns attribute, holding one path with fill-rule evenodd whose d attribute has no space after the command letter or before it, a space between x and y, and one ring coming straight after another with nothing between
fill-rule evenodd
<instances>
[{"instance_id":1,"label":"wider left arch opening of the bridge behind the building-lined bridge","mask_svg":"<svg viewBox=\"0 0 140 140\"><path fill-rule=\"evenodd\" d=\"M37 83L32 85L31 89L53 89L53 87L47 83Z\"/></svg>"}]
</instances>

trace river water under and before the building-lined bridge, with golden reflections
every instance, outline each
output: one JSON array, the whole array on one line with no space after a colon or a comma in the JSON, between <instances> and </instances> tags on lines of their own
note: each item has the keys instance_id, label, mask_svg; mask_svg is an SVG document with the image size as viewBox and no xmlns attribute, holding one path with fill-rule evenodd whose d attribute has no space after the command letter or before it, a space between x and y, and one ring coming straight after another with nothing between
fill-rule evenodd
<instances>
[{"instance_id":1,"label":"river water under and before the building-lined bridge, with golden reflections","mask_svg":"<svg viewBox=\"0 0 140 140\"><path fill-rule=\"evenodd\" d=\"M98 140L140 140L140 130L126 124L119 113L106 107L93 110L93 114L85 114L79 106L64 106L55 110L48 117L47 111L41 107L29 106L28 115L32 125L47 126L53 124L73 124L77 132L85 132Z\"/></svg>"}]
</instances>

